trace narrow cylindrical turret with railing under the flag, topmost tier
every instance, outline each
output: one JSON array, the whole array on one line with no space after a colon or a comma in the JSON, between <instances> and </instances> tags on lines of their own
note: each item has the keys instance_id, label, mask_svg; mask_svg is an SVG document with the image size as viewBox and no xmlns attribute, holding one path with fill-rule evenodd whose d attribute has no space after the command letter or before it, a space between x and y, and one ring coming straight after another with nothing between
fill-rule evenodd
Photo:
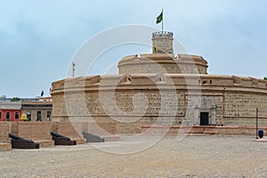
<instances>
[{"instance_id":1,"label":"narrow cylindrical turret with railing under the flag, topmost tier","mask_svg":"<svg viewBox=\"0 0 267 178\"><path fill-rule=\"evenodd\" d=\"M174 53L173 32L158 31L152 33L152 53Z\"/></svg>"}]
</instances>

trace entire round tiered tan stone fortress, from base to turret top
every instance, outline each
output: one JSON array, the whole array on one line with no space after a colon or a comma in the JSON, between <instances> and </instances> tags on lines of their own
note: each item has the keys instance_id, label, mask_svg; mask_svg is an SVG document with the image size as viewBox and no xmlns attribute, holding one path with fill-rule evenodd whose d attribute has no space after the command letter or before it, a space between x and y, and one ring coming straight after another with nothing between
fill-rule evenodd
<instances>
[{"instance_id":1,"label":"entire round tiered tan stone fortress, from base to turret top","mask_svg":"<svg viewBox=\"0 0 267 178\"><path fill-rule=\"evenodd\" d=\"M172 32L152 34L152 53L125 56L117 75L53 82L53 121L88 121L110 134L144 125L267 125L267 81L211 75L197 55L174 55ZM171 122L170 122L171 120ZM93 129L93 128L92 128Z\"/></svg>"}]
</instances>

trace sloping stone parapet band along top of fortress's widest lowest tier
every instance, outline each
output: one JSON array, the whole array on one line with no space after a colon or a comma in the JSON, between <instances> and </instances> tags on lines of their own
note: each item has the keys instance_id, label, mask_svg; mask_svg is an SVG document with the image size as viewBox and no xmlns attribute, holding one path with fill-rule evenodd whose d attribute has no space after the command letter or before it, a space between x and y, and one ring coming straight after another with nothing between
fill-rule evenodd
<instances>
[{"instance_id":1,"label":"sloping stone parapet band along top of fortress's widest lowest tier","mask_svg":"<svg viewBox=\"0 0 267 178\"><path fill-rule=\"evenodd\" d=\"M150 88L157 89L158 86L166 89L175 87L200 87L201 89L246 90L247 92L262 91L267 93L267 81L253 77L219 76L219 75L182 75L182 74L123 74L108 76L74 77L66 80L53 82L53 93L77 92L86 90L109 90Z\"/></svg>"}]
</instances>

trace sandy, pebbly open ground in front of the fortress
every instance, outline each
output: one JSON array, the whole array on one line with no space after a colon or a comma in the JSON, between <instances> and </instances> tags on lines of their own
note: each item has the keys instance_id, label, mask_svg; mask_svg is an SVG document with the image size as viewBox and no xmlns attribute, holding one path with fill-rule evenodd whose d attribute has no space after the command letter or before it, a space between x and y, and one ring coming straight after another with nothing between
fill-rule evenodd
<instances>
[{"instance_id":1,"label":"sandy, pebbly open ground in front of the fortress","mask_svg":"<svg viewBox=\"0 0 267 178\"><path fill-rule=\"evenodd\" d=\"M267 142L255 137L167 136L132 154L103 151L150 142L127 139L0 152L0 177L267 177Z\"/></svg>"}]
</instances>

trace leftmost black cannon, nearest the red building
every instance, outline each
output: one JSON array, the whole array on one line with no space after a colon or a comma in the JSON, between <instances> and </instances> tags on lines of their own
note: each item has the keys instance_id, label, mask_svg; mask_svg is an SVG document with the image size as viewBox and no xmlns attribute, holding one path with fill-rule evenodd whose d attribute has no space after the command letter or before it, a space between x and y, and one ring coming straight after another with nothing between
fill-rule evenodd
<instances>
[{"instance_id":1,"label":"leftmost black cannon, nearest the red building","mask_svg":"<svg viewBox=\"0 0 267 178\"><path fill-rule=\"evenodd\" d=\"M12 138L12 149L39 149L39 143L22 138L15 134L8 134Z\"/></svg>"}]
</instances>

